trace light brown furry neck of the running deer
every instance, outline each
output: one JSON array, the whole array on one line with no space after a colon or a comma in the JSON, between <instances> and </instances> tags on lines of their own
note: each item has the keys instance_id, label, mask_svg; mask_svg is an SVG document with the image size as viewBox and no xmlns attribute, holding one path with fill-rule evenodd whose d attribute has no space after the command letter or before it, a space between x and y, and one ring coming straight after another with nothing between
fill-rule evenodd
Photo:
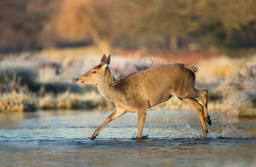
<instances>
[{"instance_id":1,"label":"light brown furry neck of the running deer","mask_svg":"<svg viewBox=\"0 0 256 167\"><path fill-rule=\"evenodd\" d=\"M107 67L105 77L103 77L102 81L97 85L99 92L101 92L101 94L108 100L112 100L112 97L115 96L113 86L116 85L117 81L118 80L115 78L110 68Z\"/></svg>"}]
</instances>

